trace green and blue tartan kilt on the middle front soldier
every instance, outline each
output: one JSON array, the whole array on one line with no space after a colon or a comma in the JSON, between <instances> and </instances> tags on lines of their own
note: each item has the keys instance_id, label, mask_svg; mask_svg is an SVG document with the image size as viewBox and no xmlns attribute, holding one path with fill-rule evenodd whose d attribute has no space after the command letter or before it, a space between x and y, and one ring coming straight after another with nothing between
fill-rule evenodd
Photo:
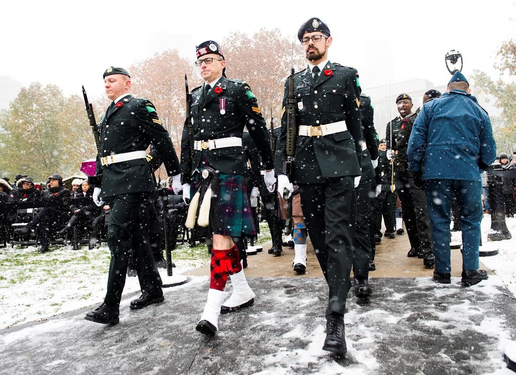
<instances>
[{"instance_id":1,"label":"green and blue tartan kilt on the middle front soldier","mask_svg":"<svg viewBox=\"0 0 516 375\"><path fill-rule=\"evenodd\" d=\"M199 177L199 173L196 174ZM210 227L214 234L231 237L254 236L251 204L249 203L244 176L217 172L219 178L218 204L210 215Z\"/></svg>"}]
</instances>

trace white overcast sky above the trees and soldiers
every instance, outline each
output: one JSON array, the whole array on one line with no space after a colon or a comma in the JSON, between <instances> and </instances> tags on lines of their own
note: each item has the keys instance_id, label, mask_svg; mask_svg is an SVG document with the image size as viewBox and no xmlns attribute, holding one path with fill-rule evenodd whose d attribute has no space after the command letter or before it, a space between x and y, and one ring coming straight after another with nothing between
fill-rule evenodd
<instances>
[{"instance_id":1,"label":"white overcast sky above the trees and soldiers","mask_svg":"<svg viewBox=\"0 0 516 375\"><path fill-rule=\"evenodd\" d=\"M331 30L330 60L357 68L363 88L417 78L443 85L449 79L444 55L451 49L464 56L466 76L473 69L494 76L499 46L516 34L513 0L25 0L2 4L0 76L23 86L56 84L67 95L80 94L84 84L99 97L108 66L128 67L169 48L193 62L196 44L262 27L279 28L297 42L299 26L311 17ZM273 54L275 45L268 47Z\"/></svg>"}]
</instances>

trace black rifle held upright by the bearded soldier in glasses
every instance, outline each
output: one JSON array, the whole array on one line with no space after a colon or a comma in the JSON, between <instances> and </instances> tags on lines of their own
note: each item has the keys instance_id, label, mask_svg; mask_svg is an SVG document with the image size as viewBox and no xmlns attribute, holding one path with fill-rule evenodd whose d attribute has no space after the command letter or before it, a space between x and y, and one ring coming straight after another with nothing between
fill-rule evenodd
<instances>
[{"instance_id":1,"label":"black rifle held upright by the bearded soldier in glasses","mask_svg":"<svg viewBox=\"0 0 516 375\"><path fill-rule=\"evenodd\" d=\"M294 46L293 46L294 48ZM296 97L294 96L294 67L291 68L291 74L288 76L288 97L286 104L287 116L287 139L286 139L286 154L287 160L283 162L283 173L286 174L288 180L292 175L292 162L296 155ZM288 189L283 190L283 199L287 201L286 218L285 218L285 235L292 234L294 230L294 222L292 220L292 199L293 195L288 198Z\"/></svg>"}]
</instances>

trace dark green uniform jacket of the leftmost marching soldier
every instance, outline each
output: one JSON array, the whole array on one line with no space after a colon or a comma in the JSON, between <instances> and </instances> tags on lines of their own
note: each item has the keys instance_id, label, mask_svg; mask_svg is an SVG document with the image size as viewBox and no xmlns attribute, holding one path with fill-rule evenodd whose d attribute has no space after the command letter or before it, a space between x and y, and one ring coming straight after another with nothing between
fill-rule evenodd
<instances>
[{"instance_id":1,"label":"dark green uniform jacket of the leftmost marching soldier","mask_svg":"<svg viewBox=\"0 0 516 375\"><path fill-rule=\"evenodd\" d=\"M121 103L118 104L118 103ZM163 127L154 105L145 98L124 96L110 106L100 123L102 155L146 151L152 142L159 151L169 176L180 173L178 156ZM97 160L97 173L100 161ZM147 160L134 159L104 166L101 198L117 194L154 191L151 169Z\"/></svg>"}]
</instances>

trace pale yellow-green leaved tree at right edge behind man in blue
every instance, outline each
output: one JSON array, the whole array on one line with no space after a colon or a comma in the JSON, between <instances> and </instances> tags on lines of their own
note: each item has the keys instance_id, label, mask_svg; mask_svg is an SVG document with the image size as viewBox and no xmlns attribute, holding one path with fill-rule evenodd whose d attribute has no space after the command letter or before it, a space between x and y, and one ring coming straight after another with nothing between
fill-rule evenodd
<instances>
[{"instance_id":1,"label":"pale yellow-green leaved tree at right edge behind man in blue","mask_svg":"<svg viewBox=\"0 0 516 375\"><path fill-rule=\"evenodd\" d=\"M495 68L501 75L497 80L478 70L473 77L475 86L494 97L494 105L502 109L499 117L491 117L494 136L499 152L511 152L516 150L516 83L513 78L508 81L502 76L516 76L516 43L513 40L505 42L498 51Z\"/></svg>"}]
</instances>

